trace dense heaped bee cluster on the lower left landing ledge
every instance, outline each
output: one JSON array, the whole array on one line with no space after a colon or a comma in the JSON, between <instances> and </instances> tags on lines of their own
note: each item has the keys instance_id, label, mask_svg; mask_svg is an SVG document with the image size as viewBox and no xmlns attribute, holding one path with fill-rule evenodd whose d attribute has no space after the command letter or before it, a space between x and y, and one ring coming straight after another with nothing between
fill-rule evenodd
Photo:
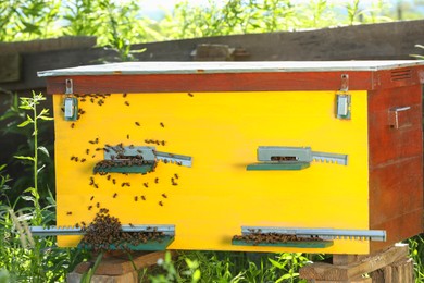
<instances>
[{"instance_id":1,"label":"dense heaped bee cluster on the lower left landing ledge","mask_svg":"<svg viewBox=\"0 0 424 283\"><path fill-rule=\"evenodd\" d=\"M133 226L133 224L130 224ZM134 226L133 226L134 227ZM164 233L157 229L147 229L146 232L123 232L117 218L111 217L109 210L101 208L93 221L84 226L85 235L80 246L93 250L128 249L148 242L162 242Z\"/></svg>"}]
</instances>

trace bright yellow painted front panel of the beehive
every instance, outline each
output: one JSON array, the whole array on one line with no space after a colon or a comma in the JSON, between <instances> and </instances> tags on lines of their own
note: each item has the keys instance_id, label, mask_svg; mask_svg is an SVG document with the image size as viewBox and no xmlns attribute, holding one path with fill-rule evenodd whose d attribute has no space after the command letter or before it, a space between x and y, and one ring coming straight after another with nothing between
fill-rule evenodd
<instances>
[{"instance_id":1,"label":"bright yellow painted front panel of the beehive","mask_svg":"<svg viewBox=\"0 0 424 283\"><path fill-rule=\"evenodd\" d=\"M175 224L170 249L366 254L367 241L335 241L324 249L230 244L242 225L369 229L366 91L350 94L349 121L335 118L335 91L263 91L194 93L194 97L112 94L102 106L99 99L92 103L79 98L86 113L76 122L64 121L63 97L55 95L58 225L89 223L99 202L123 224ZM96 138L98 145L89 143ZM190 156L192 167L161 162L154 173L112 173L115 185L96 175L99 188L89 185L96 162L103 159L96 148L120 143L148 146L145 139L165 140L158 150ZM349 163L247 171L257 162L259 146L310 146L314 151L348 155ZM71 161L72 156L86 161ZM175 173L177 186L171 184ZM122 187L122 182L130 187ZM88 210L89 206L93 208ZM59 244L75 246L79 239L61 236Z\"/></svg>"}]
</instances>

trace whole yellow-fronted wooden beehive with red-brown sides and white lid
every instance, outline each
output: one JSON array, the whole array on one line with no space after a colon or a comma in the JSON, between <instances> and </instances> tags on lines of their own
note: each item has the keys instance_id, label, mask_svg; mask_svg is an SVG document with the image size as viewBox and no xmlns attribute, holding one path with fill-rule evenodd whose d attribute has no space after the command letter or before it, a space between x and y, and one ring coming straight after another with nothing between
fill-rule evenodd
<instances>
[{"instance_id":1,"label":"whole yellow-fronted wooden beehive with red-brown sides and white lid","mask_svg":"<svg viewBox=\"0 0 424 283\"><path fill-rule=\"evenodd\" d=\"M369 254L415 235L423 65L137 62L40 72L53 95L58 225L89 223L108 208L123 224L175 225L170 249L328 254ZM77 102L75 121L64 119L64 99ZM162 158L147 174L95 174L116 146L154 147L189 164ZM386 241L233 241L242 227L377 231Z\"/></svg>"}]
</instances>

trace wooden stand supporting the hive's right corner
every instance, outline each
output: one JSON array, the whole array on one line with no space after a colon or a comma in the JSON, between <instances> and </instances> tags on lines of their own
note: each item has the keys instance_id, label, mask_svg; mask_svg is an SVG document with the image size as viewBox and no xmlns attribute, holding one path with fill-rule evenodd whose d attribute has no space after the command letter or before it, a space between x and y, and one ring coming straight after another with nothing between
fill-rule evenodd
<instances>
[{"instance_id":1,"label":"wooden stand supporting the hive's right corner","mask_svg":"<svg viewBox=\"0 0 424 283\"><path fill-rule=\"evenodd\" d=\"M369 274L369 276L365 276ZM315 262L300 269L300 278L314 283L413 283L408 245L396 244L370 255L334 255L333 264Z\"/></svg>"}]
</instances>

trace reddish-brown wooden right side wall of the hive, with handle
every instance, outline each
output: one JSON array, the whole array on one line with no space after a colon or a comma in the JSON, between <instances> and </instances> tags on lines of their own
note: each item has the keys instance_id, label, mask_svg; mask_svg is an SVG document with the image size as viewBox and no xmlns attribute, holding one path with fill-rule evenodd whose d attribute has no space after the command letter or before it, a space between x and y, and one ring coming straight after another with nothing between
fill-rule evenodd
<instances>
[{"instance_id":1,"label":"reddish-brown wooden right side wall of the hive, with handle","mask_svg":"<svg viewBox=\"0 0 424 283\"><path fill-rule=\"evenodd\" d=\"M398 84L399 82L397 82ZM403 126L391 128L388 110L410 107ZM370 229L386 230L371 251L422 232L423 131L421 86L370 91Z\"/></svg>"}]
</instances>

